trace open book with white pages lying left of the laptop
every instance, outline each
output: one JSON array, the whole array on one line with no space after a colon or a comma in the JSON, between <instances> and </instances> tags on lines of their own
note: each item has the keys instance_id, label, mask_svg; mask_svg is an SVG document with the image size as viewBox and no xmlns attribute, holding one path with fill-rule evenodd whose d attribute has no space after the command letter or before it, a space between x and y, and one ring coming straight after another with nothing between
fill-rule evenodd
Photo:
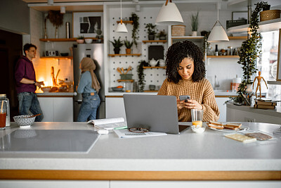
<instances>
[{"instance_id":1,"label":"open book with white pages lying left of the laptop","mask_svg":"<svg viewBox=\"0 0 281 188\"><path fill-rule=\"evenodd\" d=\"M92 123L98 129L113 130L117 127L126 126L124 118L108 118L99 120L89 120L88 123Z\"/></svg>"}]
</instances>

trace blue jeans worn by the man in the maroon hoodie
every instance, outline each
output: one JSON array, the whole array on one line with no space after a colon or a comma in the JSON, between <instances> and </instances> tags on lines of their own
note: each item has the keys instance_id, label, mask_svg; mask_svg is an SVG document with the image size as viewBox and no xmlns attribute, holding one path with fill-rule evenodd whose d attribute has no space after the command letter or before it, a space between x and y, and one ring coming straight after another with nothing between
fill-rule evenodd
<instances>
[{"instance_id":1,"label":"blue jeans worn by the man in the maroon hoodie","mask_svg":"<svg viewBox=\"0 0 281 188\"><path fill-rule=\"evenodd\" d=\"M35 118L35 121L43 120L44 116L37 99L37 94L34 94L32 92L21 92L18 94L18 102L20 115L27 115L29 114L29 111L33 115L41 113L41 115L38 115Z\"/></svg>"}]
</instances>

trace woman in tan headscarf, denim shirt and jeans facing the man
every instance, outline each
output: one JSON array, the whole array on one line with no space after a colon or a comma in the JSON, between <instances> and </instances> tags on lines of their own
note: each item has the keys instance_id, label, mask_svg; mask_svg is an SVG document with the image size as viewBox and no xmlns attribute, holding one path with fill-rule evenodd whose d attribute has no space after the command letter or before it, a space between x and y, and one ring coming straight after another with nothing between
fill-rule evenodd
<instances>
[{"instance_id":1,"label":"woman in tan headscarf, denim shirt and jeans facing the man","mask_svg":"<svg viewBox=\"0 0 281 188\"><path fill-rule=\"evenodd\" d=\"M91 58L83 58L80 63L81 77L77 87L77 92L82 94L83 100L79 109L77 121L86 122L87 120L96 120L96 112L100 106L100 83L93 73L96 69L96 64Z\"/></svg>"}]
</instances>

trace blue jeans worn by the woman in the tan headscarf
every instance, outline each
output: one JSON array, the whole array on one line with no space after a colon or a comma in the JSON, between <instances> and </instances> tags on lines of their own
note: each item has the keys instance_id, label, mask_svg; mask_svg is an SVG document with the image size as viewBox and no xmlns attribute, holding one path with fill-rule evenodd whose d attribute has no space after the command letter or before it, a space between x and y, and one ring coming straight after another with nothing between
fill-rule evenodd
<instances>
[{"instance_id":1,"label":"blue jeans worn by the woman in the tan headscarf","mask_svg":"<svg viewBox=\"0 0 281 188\"><path fill-rule=\"evenodd\" d=\"M96 120L96 111L100 106L100 96L97 93L95 95L82 94L82 104L79 109L77 121L86 122L87 120Z\"/></svg>"}]
</instances>

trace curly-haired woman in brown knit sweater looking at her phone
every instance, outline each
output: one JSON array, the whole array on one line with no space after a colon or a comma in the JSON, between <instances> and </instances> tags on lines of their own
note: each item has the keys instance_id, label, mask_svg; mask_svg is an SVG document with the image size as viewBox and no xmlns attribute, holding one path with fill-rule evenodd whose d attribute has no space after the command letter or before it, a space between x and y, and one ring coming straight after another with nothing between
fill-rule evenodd
<instances>
[{"instance_id":1,"label":"curly-haired woman in brown knit sweater looking at her phone","mask_svg":"<svg viewBox=\"0 0 281 188\"><path fill-rule=\"evenodd\" d=\"M203 54L197 45L183 41L169 47L166 52L166 80L158 95L176 96L178 121L191 121L190 109L203 109L203 121L218 120L214 90L205 73ZM190 95L190 100L180 101L181 95Z\"/></svg>"}]
</instances>

